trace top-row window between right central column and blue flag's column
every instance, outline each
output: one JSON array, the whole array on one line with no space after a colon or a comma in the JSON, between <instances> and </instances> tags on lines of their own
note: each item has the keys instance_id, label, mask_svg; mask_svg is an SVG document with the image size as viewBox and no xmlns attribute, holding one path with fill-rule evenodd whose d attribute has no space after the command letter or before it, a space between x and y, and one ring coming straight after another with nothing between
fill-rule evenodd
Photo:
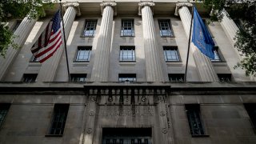
<instances>
[{"instance_id":1,"label":"top-row window between right central column and blue flag's column","mask_svg":"<svg viewBox=\"0 0 256 144\"><path fill-rule=\"evenodd\" d=\"M170 29L170 20L169 19L158 20L158 23L159 23L161 37L173 37L174 36L174 34L172 33L172 30Z\"/></svg>"}]
</instances>

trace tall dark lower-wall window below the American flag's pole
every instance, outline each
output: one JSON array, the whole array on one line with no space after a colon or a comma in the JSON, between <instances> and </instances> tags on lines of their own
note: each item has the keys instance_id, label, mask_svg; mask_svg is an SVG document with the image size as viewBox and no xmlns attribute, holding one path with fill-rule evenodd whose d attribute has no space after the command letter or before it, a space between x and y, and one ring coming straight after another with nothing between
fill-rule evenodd
<instances>
[{"instance_id":1,"label":"tall dark lower-wall window below the American flag's pole","mask_svg":"<svg viewBox=\"0 0 256 144\"><path fill-rule=\"evenodd\" d=\"M66 116L69 110L68 104L55 104L54 114L51 120L49 135L62 135L65 128Z\"/></svg>"}]
</instances>

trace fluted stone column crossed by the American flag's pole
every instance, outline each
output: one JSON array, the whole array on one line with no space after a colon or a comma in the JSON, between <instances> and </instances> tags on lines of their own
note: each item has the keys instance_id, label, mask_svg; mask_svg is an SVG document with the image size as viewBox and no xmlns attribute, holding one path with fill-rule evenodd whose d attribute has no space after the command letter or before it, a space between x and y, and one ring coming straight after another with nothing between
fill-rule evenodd
<instances>
[{"instance_id":1,"label":"fluted stone column crossed by the American flag's pole","mask_svg":"<svg viewBox=\"0 0 256 144\"><path fill-rule=\"evenodd\" d=\"M63 16L63 21L64 21L64 29L65 29L65 35L66 35L66 40L69 37L71 26L73 25L74 18L76 14L80 14L78 11L79 8L79 3L78 2L67 2L63 4L64 7L66 8L66 12ZM63 36L63 34L62 34ZM69 46L67 46L67 49ZM64 42L60 48L54 53L54 55L49 58L46 62L42 63L41 70L38 73L38 82L52 82L54 81L54 76L55 73L58 69L58 64L60 62L60 59L62 57L64 51ZM66 74L66 80L68 80L68 76Z\"/></svg>"}]
</instances>

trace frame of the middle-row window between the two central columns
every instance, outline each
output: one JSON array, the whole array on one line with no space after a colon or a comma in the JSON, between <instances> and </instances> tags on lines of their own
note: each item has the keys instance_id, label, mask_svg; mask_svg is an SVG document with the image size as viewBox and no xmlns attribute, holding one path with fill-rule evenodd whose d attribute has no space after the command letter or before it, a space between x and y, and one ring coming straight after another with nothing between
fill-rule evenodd
<instances>
[{"instance_id":1,"label":"frame of the middle-row window between the two central columns","mask_svg":"<svg viewBox=\"0 0 256 144\"><path fill-rule=\"evenodd\" d=\"M129 54L127 52L127 59L124 60L124 50L122 49L126 49L125 51L131 51L132 52L132 58L130 60L128 60ZM136 62L136 50L135 50L135 46L120 46L119 49L119 62Z\"/></svg>"}]
</instances>

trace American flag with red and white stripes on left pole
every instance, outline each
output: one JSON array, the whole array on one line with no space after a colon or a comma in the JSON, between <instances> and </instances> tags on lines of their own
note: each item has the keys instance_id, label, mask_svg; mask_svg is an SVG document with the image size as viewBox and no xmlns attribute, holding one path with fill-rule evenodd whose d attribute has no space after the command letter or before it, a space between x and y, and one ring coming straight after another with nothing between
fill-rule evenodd
<instances>
[{"instance_id":1,"label":"American flag with red and white stripes on left pole","mask_svg":"<svg viewBox=\"0 0 256 144\"><path fill-rule=\"evenodd\" d=\"M62 27L60 23L60 11L58 10L38 40L34 42L31 52L38 62L45 62L62 46Z\"/></svg>"}]
</instances>

